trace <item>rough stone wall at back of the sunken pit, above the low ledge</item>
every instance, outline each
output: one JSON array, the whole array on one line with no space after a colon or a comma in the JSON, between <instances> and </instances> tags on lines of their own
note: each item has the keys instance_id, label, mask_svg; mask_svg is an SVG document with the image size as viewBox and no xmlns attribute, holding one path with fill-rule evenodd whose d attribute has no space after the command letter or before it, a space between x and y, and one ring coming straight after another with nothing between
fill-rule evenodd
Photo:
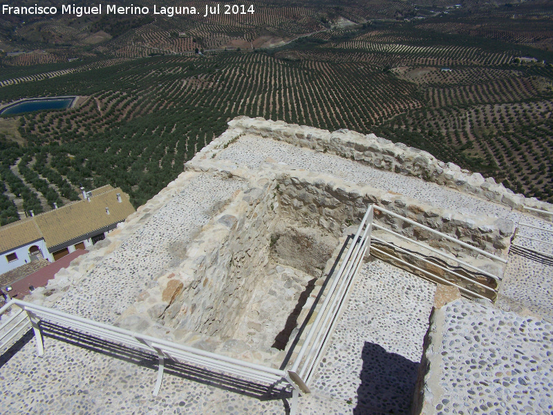
<instances>
[{"instance_id":1,"label":"rough stone wall at back of the sunken pit, above the low ledge","mask_svg":"<svg viewBox=\"0 0 553 415\"><path fill-rule=\"evenodd\" d=\"M382 205L386 210L427 225L460 241L469 243L494 255L505 255L514 223L508 219L467 218L454 212L424 205L414 199L368 186L339 183L335 178L312 177L301 172L284 174L279 180L281 205L308 225L321 226L336 236L344 225L359 223L369 204ZM392 230L415 241L430 243L434 248L446 248L457 254L477 256L474 251L441 239L411 223L379 212L375 219Z\"/></svg>"}]
</instances>

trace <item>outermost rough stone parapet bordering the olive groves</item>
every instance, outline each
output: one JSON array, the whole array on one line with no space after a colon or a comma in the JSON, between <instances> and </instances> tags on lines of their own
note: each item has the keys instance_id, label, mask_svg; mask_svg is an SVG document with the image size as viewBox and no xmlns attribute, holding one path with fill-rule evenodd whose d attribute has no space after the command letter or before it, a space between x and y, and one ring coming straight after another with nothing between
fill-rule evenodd
<instances>
[{"instance_id":1,"label":"outermost rough stone parapet bordering the olive groves","mask_svg":"<svg viewBox=\"0 0 553 415\"><path fill-rule=\"evenodd\" d=\"M229 122L229 127L242 129L243 133L283 140L293 145L351 158L378 169L423 178L425 181L474 194L517 210L525 205L553 212L550 203L514 194L503 184L496 183L494 178L484 178L480 173L471 173L454 163L443 163L427 151L408 147L401 142L393 143L375 134L364 135L347 129L330 133L314 127L247 117L234 118ZM545 216L545 219L550 219L550 216Z\"/></svg>"}]
</instances>

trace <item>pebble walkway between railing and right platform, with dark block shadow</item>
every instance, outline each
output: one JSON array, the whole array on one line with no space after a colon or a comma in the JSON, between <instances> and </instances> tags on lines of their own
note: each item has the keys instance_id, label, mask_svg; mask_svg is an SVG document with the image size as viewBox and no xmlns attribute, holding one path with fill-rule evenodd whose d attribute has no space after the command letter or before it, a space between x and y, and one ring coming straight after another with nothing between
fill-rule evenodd
<instances>
[{"instance_id":1,"label":"pebble walkway between railing and right platform, with dark block shadow","mask_svg":"<svg viewBox=\"0 0 553 415\"><path fill-rule=\"evenodd\" d=\"M434 293L379 259L364 264L311 382L335 410L320 413L410 413Z\"/></svg>"}]
</instances>

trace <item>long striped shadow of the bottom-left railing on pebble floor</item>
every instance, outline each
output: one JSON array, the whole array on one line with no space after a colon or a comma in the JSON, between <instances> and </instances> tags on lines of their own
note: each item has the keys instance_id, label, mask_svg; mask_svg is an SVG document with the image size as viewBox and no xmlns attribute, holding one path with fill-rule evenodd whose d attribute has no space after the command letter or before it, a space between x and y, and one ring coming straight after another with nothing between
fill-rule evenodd
<instances>
[{"instance_id":1,"label":"long striped shadow of the bottom-left railing on pebble floor","mask_svg":"<svg viewBox=\"0 0 553 415\"><path fill-rule=\"evenodd\" d=\"M63 326L45 322L44 320L40 323L40 326L45 338L52 338L56 341L72 344L88 351L101 353L104 356L124 360L140 367L147 367L156 372L158 370L158 356L148 351L132 349L115 342L102 340L72 329L66 329ZM32 331L30 333L32 338ZM44 352L45 355L48 354L48 347L44 348ZM292 392L286 391L284 389L285 385L261 385L256 382L249 382L241 378L235 378L234 376L210 371L203 367L194 367L169 359L165 360L164 383L169 382L169 379L166 378L167 375L177 376L185 380L191 380L262 401L283 400L285 412L287 414L290 412L287 400L292 398ZM154 385L155 381L151 384L151 391L153 391ZM160 394L163 394L163 384Z\"/></svg>"}]
</instances>

